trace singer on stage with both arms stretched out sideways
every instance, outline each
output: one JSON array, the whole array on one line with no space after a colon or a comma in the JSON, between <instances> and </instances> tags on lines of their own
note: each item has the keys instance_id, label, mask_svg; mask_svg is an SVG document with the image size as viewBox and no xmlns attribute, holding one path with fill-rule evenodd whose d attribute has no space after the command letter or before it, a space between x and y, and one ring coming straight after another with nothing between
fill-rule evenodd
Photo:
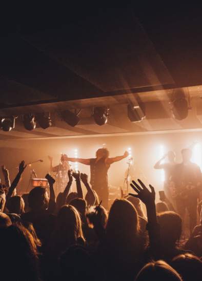
<instances>
[{"instance_id":1,"label":"singer on stage with both arms stretched out sideways","mask_svg":"<svg viewBox=\"0 0 202 281\"><path fill-rule=\"evenodd\" d=\"M107 148L99 148L96 151L96 158L82 159L70 158L63 156L64 160L70 162L79 162L85 165L90 165L91 179L90 183L92 189L96 191L100 200L103 200L103 206L108 209L108 170L112 163L120 161L128 157L129 153L126 151L122 156L109 158L109 151Z\"/></svg>"}]
</instances>

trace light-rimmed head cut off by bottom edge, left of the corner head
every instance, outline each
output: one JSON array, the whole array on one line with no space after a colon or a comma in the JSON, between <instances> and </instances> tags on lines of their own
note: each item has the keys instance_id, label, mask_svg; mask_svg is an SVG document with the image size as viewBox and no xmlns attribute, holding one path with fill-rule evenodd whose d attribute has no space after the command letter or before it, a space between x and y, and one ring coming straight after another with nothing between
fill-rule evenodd
<instances>
[{"instance_id":1,"label":"light-rimmed head cut off by bottom edge, left of the corner head","mask_svg":"<svg viewBox=\"0 0 202 281\"><path fill-rule=\"evenodd\" d=\"M182 281L180 275L163 260L152 261L137 274L135 281Z\"/></svg>"}]
</instances>

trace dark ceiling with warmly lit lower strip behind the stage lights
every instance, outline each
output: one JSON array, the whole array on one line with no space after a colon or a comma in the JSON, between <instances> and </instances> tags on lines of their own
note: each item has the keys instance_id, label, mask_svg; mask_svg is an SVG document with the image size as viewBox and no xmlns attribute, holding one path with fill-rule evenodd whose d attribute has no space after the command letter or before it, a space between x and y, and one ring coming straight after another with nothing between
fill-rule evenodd
<instances>
[{"instance_id":1,"label":"dark ceiling with warmly lit lower strip behind the stage lights","mask_svg":"<svg viewBox=\"0 0 202 281\"><path fill-rule=\"evenodd\" d=\"M30 8L17 17L5 17L0 116L19 117L11 132L0 130L0 138L201 128L200 14L200 9L186 6L179 11L163 6L60 7L46 14ZM174 120L170 111L175 88L182 88L191 98L192 110L183 121ZM137 98L146 105L146 119L131 123L127 104ZM93 106L110 107L106 125L94 123ZM75 108L82 109L81 121L71 127L58 113ZM41 111L51 112L53 126L25 130L20 116Z\"/></svg>"}]
</instances>

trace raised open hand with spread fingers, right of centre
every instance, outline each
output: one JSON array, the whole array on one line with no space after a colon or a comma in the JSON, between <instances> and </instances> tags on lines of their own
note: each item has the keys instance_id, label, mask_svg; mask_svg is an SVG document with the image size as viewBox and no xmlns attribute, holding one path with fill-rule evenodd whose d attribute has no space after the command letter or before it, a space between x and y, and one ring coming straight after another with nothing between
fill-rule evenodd
<instances>
[{"instance_id":1,"label":"raised open hand with spread fingers, right of centre","mask_svg":"<svg viewBox=\"0 0 202 281\"><path fill-rule=\"evenodd\" d=\"M155 203L155 191L151 184L149 185L150 192L141 180L138 179L138 184L134 180L132 180L132 183L130 185L137 194L129 193L129 195L139 198L146 205Z\"/></svg>"}]
</instances>

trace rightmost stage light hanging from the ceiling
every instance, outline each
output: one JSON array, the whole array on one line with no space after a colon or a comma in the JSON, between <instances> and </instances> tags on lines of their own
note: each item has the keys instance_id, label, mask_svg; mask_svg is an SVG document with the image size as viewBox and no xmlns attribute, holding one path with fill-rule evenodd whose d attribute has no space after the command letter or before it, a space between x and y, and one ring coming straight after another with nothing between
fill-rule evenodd
<instances>
[{"instance_id":1,"label":"rightmost stage light hanging from the ceiling","mask_svg":"<svg viewBox=\"0 0 202 281\"><path fill-rule=\"evenodd\" d=\"M176 120L183 120L187 118L188 111L191 109L183 89L174 90L174 99L170 103L173 118Z\"/></svg>"}]
</instances>

